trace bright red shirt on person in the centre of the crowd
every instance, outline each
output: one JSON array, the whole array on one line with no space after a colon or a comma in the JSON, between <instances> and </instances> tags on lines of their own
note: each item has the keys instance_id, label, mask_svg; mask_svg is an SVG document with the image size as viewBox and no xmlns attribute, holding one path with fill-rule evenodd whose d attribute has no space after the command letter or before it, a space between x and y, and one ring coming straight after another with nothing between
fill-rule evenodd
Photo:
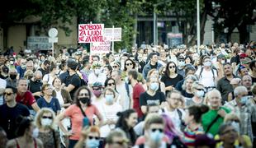
<instances>
[{"instance_id":1,"label":"bright red shirt on person in the centre of the crowd","mask_svg":"<svg viewBox=\"0 0 256 148\"><path fill-rule=\"evenodd\" d=\"M133 99L133 109L138 113L138 117L141 118L143 113L140 110L140 94L144 93L145 90L140 83L135 84L133 87L132 99Z\"/></svg>"}]
</instances>

